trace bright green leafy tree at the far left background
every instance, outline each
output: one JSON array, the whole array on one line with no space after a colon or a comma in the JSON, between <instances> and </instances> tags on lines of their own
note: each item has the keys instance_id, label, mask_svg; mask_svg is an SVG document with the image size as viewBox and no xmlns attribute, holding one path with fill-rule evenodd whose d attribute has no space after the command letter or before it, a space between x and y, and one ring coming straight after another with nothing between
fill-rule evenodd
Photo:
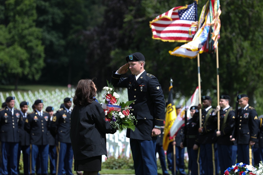
<instances>
[{"instance_id":1,"label":"bright green leafy tree at the far left background","mask_svg":"<svg viewBox=\"0 0 263 175\"><path fill-rule=\"evenodd\" d=\"M1 81L18 79L23 75L38 79L44 66L44 46L41 29L36 28L36 2L33 0L0 1L0 62ZM7 80L6 80L7 79Z\"/></svg>"}]
</instances>

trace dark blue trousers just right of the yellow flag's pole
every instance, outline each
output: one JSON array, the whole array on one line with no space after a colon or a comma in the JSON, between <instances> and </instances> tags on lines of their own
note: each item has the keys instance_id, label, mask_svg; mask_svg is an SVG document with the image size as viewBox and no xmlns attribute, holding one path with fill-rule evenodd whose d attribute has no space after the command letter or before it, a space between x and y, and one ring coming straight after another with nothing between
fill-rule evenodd
<instances>
[{"instance_id":1,"label":"dark blue trousers just right of the yellow flag's pole","mask_svg":"<svg viewBox=\"0 0 263 175\"><path fill-rule=\"evenodd\" d=\"M179 174L186 174L184 171L184 148L175 146L175 161L176 172L179 172ZM174 159L172 161L172 174L174 174Z\"/></svg>"}]
</instances>

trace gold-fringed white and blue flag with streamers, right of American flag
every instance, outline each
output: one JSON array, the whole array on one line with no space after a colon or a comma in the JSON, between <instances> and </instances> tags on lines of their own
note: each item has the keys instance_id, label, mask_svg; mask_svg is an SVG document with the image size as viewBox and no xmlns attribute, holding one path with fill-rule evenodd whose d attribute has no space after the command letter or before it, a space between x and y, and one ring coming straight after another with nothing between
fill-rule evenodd
<instances>
[{"instance_id":1,"label":"gold-fringed white and blue flag with streamers, right of American flag","mask_svg":"<svg viewBox=\"0 0 263 175\"><path fill-rule=\"evenodd\" d=\"M176 47L173 51L169 51L170 55L192 59L195 58L198 53L214 52L219 39L221 26L219 19L220 14L219 0L207 1L200 14L199 29L193 41Z\"/></svg>"}]
</instances>

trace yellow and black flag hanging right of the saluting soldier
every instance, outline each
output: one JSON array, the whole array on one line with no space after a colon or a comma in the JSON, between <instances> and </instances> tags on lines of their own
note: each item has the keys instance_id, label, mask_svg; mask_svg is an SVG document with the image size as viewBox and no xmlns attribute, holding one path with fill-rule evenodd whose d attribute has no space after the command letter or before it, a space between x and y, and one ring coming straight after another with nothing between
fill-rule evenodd
<instances>
[{"instance_id":1,"label":"yellow and black flag hanging right of the saluting soldier","mask_svg":"<svg viewBox=\"0 0 263 175\"><path fill-rule=\"evenodd\" d=\"M164 125L164 135L163 135L163 149L167 150L168 145L173 139L170 139L170 129L173 126L174 121L177 117L176 109L173 102L173 86L169 87L168 102L166 104L166 113L165 113L165 125Z\"/></svg>"}]
</instances>

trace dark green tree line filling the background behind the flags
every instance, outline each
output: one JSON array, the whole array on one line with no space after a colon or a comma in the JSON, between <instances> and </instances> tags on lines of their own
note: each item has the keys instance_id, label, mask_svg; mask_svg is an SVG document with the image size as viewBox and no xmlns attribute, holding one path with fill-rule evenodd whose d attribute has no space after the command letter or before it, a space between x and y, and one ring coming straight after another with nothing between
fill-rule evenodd
<instances>
[{"instance_id":1,"label":"dark green tree line filling the background behind the flags","mask_svg":"<svg viewBox=\"0 0 263 175\"><path fill-rule=\"evenodd\" d=\"M198 86L197 60L169 55L184 43L153 40L149 21L193 1L151 0L0 0L1 84L77 84L96 77L99 89L125 57L141 52L145 70L156 76L168 96L170 77L175 92L190 97ZM198 1L198 17L206 3ZM220 94L237 91L263 112L263 2L221 0L219 39ZM216 58L200 54L202 95L216 105Z\"/></svg>"}]
</instances>

